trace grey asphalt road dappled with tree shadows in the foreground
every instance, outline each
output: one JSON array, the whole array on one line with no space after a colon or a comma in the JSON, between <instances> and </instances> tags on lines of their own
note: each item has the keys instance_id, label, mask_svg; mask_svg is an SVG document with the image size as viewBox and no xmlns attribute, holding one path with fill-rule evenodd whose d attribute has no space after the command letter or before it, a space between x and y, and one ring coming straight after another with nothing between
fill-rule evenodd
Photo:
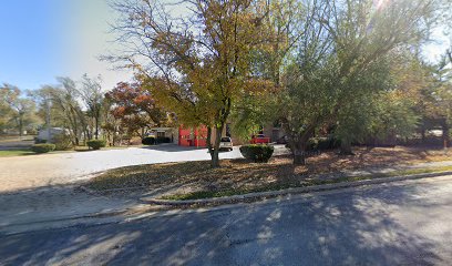
<instances>
[{"instance_id":1,"label":"grey asphalt road dappled with tree shadows in the foreground","mask_svg":"<svg viewBox=\"0 0 452 266\"><path fill-rule=\"evenodd\" d=\"M452 176L0 236L1 265L451 265Z\"/></svg>"}]
</instances>

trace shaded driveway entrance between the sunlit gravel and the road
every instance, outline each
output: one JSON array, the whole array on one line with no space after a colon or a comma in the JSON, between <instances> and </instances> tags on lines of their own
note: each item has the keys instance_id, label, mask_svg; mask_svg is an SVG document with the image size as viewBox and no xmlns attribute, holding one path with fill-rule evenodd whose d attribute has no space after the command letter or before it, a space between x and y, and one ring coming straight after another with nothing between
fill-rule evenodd
<instances>
[{"instance_id":1,"label":"shaded driveway entrance between the sunlit gravel and the road","mask_svg":"<svg viewBox=\"0 0 452 266\"><path fill-rule=\"evenodd\" d=\"M123 211L134 200L92 195L80 183L48 185L0 193L0 235L40 228L39 224ZM34 226L38 225L38 226Z\"/></svg>"}]
</instances>

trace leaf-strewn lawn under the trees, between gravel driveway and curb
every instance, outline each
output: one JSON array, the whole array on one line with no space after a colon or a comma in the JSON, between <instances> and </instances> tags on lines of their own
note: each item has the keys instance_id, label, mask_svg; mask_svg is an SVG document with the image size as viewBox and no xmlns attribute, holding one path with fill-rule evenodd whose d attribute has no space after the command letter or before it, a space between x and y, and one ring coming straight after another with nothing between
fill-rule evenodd
<instances>
[{"instance_id":1,"label":"leaf-strewn lawn under the trees, between gravel driveway and curb","mask_svg":"<svg viewBox=\"0 0 452 266\"><path fill-rule=\"evenodd\" d=\"M222 167L214 170L209 167L208 162L127 166L107 171L91 180L88 186L105 194L153 192L161 198L194 200L452 170L452 167L403 170L373 176L348 177L343 174L347 171L452 160L452 156L444 154L442 150L414 147L358 147L355 152L355 156L339 156L335 152L326 152L309 157L306 166L294 166L289 156L276 156L266 164L249 163L245 160L223 160ZM449 154L452 154L452 151Z\"/></svg>"}]
</instances>

